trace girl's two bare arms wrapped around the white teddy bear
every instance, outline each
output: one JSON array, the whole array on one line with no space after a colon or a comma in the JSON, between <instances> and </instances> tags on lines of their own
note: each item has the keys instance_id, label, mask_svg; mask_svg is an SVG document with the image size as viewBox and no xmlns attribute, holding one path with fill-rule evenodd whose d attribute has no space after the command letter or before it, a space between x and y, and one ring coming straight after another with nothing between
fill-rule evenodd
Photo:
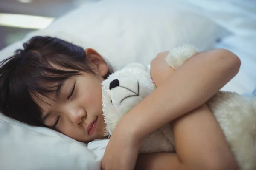
<instances>
[{"instance_id":1,"label":"girl's two bare arms wrapped around the white teddy bear","mask_svg":"<svg viewBox=\"0 0 256 170\"><path fill-rule=\"evenodd\" d=\"M166 54L151 62L157 89L120 120L102 169L133 170L141 139L174 121L176 153L139 156L137 169L237 170L224 134L204 103L238 73L239 58L223 49L206 51L174 71L165 62Z\"/></svg>"}]
</instances>

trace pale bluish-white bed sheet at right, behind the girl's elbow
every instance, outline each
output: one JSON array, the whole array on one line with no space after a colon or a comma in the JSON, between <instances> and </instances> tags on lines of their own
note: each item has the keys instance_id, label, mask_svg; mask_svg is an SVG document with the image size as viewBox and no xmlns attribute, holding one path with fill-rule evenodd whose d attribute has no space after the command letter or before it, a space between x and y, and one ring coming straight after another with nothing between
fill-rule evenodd
<instances>
[{"instance_id":1,"label":"pale bluish-white bed sheet at right, behind the girl's elbow","mask_svg":"<svg viewBox=\"0 0 256 170\"><path fill-rule=\"evenodd\" d=\"M241 68L222 90L240 94L256 88L256 0L184 0L227 28L233 35L216 43L241 59Z\"/></svg>"}]
</instances>

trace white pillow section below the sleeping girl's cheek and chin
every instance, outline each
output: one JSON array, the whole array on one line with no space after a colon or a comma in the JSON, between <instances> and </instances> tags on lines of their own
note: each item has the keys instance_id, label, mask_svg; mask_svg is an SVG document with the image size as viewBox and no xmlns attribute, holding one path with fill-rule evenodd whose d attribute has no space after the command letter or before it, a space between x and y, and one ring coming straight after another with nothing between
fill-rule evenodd
<instances>
[{"instance_id":1,"label":"white pillow section below the sleeping girl's cheek and chin","mask_svg":"<svg viewBox=\"0 0 256 170\"><path fill-rule=\"evenodd\" d=\"M88 149L54 130L0 114L0 170L101 170L108 139L100 142L89 142Z\"/></svg>"}]
</instances>

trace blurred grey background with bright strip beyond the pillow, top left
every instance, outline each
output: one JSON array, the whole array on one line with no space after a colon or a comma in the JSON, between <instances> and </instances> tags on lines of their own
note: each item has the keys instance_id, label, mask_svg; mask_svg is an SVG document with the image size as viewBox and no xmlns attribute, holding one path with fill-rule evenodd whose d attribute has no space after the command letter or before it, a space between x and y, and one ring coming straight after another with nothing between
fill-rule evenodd
<instances>
[{"instance_id":1,"label":"blurred grey background with bright strip beyond the pillow, top left","mask_svg":"<svg viewBox=\"0 0 256 170\"><path fill-rule=\"evenodd\" d=\"M89 1L92 0L0 0L0 50Z\"/></svg>"}]
</instances>

